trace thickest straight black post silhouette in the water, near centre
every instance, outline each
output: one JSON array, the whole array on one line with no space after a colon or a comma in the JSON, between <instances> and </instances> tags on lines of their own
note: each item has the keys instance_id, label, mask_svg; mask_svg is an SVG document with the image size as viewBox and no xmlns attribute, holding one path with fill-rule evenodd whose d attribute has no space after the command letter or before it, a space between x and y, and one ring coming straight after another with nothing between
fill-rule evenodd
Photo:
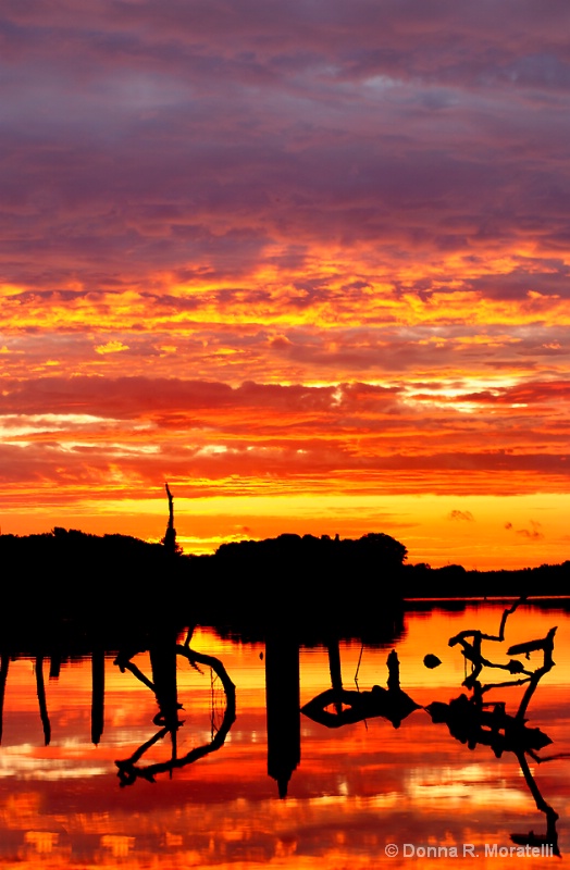
<instances>
[{"instance_id":1,"label":"thickest straight black post silhouette in the water, near centre","mask_svg":"<svg viewBox=\"0 0 570 870\"><path fill-rule=\"evenodd\" d=\"M287 796L293 771L301 760L299 644L290 632L272 630L265 639L268 773Z\"/></svg>"}]
</instances>

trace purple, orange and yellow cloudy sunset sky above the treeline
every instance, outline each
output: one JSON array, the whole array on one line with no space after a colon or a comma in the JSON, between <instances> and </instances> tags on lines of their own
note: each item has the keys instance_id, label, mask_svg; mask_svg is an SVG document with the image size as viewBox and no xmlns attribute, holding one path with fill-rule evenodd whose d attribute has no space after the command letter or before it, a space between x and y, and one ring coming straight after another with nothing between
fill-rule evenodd
<instances>
[{"instance_id":1,"label":"purple, orange and yellow cloudy sunset sky above the treeline","mask_svg":"<svg viewBox=\"0 0 570 870\"><path fill-rule=\"evenodd\" d=\"M4 0L0 523L569 558L570 4Z\"/></svg>"}]
</instances>

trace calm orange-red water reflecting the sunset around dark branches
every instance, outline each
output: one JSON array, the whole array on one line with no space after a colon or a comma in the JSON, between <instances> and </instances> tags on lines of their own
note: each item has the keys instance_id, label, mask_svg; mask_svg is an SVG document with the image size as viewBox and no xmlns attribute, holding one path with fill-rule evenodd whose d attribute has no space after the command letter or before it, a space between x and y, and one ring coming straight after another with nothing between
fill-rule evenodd
<instances>
[{"instance_id":1,"label":"calm orange-red water reflecting the sunset around dark branches","mask_svg":"<svg viewBox=\"0 0 570 870\"><path fill-rule=\"evenodd\" d=\"M541 848L537 844L547 828L552 842L555 815L559 817L558 848L567 863L568 614L520 607L509 617L504 643L482 644L485 658L507 663L508 647L544 638L558 626L556 666L540 680L525 713L528 729L540 729L553 741L538 750L543 758L555 756L553 760L538 763L522 754L521 765L508 747L496 757L495 738L487 741L492 745L482 745L475 737L476 745L470 749L450 734L447 724L434 723L423 709L432 701L447 705L461 693L471 696L461 687L471 667L466 667L460 645L449 647L448 638L468 629L496 634L503 610L499 605L484 605L461 613L441 609L411 613L406 617L404 636L383 648L359 643L342 643L338 649L332 645L329 650L301 648L298 688L296 652L287 648L286 639L277 638L274 648L265 650L263 644L222 641L211 631L198 630L191 647L223 663L236 686L236 716L232 721L227 714L227 693L215 669L203 660L191 667L179 656L177 693L184 725L177 731L175 749L162 722L153 722L159 708L152 691L135 673L122 673L113 657L104 660L100 737L98 716L95 725L91 717L90 659L63 663L55 679L49 678L50 662L44 661L44 717L35 660L11 660L0 748L0 865L154 870L387 866L396 870L420 863L441 867L443 861L444 867L457 862L466 870L547 867L560 859L548 857L544 846L534 857L532 853L500 856L505 849L524 850L521 843ZM373 685L385 687L386 659L393 648L399 659L401 689L421 705L399 728L374 716L370 705L363 708L365 719L337 728L298 716L296 692L303 706L339 676L349 691L356 691L357 671L361 693ZM423 663L426 654L437 656L439 667L429 670ZM531 650L528 659L523 654L510 658L531 672L542 667L545 650ZM150 678L149 652L138 652L132 662ZM273 776L268 773L265 664L271 683ZM487 685L521 676L484 668L479 679ZM515 717L524 689L524 685L495 688L485 693L484 700L505 701L506 713ZM343 718L349 707L350 703L332 704L325 713L334 720L344 710ZM459 728L466 722L472 738L476 729L471 713L459 720ZM485 719L484 725L484 732L491 733L491 720ZM292 772L299 732L300 760ZM512 739L520 746L517 734ZM169 770L173 757L189 763ZM131 782L123 787L116 761L123 762L124 779ZM152 770L154 782L147 779ZM287 796L280 799L274 776L286 781L288 773L286 786L282 782ZM396 850L391 844L398 847L395 857L386 856L386 847L388 853ZM430 854L434 847L439 849L438 857Z\"/></svg>"}]
</instances>

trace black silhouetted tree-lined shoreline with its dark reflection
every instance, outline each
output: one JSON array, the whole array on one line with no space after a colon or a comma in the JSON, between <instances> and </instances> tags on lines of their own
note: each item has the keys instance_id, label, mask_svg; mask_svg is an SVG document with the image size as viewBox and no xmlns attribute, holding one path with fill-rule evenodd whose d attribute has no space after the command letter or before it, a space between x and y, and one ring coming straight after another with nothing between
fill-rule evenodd
<instances>
[{"instance_id":1,"label":"black silhouetted tree-lined shoreline with its dark reflection","mask_svg":"<svg viewBox=\"0 0 570 870\"><path fill-rule=\"evenodd\" d=\"M191 624L250 639L282 631L309 644L332 634L382 644L399 635L411 609L461 610L520 596L570 608L570 561L482 572L405 559L406 547L383 534L281 535L223 545L213 556L75 530L0 535L0 645L22 630L38 639L88 635L107 643Z\"/></svg>"}]
</instances>

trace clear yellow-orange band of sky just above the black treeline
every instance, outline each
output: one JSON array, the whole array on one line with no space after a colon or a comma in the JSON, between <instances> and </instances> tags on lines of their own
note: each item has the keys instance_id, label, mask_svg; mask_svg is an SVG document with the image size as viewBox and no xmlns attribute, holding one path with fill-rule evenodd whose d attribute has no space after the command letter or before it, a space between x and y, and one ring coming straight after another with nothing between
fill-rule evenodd
<instances>
[{"instance_id":1,"label":"clear yellow-orange band of sky just above the black treeline","mask_svg":"<svg viewBox=\"0 0 570 870\"><path fill-rule=\"evenodd\" d=\"M524 568L568 558L566 517L570 495L354 495L349 493L235 495L186 498L175 493L175 526L187 552L212 552L220 544L276 537L283 532L360 537L384 532L408 548L408 562L449 562L466 569ZM117 488L117 492L120 487ZM48 509L49 510L49 509ZM469 519L471 517L472 519ZM83 499L12 509L2 531L47 532L53 525L96 534L131 534L160 540L165 498Z\"/></svg>"}]
</instances>

